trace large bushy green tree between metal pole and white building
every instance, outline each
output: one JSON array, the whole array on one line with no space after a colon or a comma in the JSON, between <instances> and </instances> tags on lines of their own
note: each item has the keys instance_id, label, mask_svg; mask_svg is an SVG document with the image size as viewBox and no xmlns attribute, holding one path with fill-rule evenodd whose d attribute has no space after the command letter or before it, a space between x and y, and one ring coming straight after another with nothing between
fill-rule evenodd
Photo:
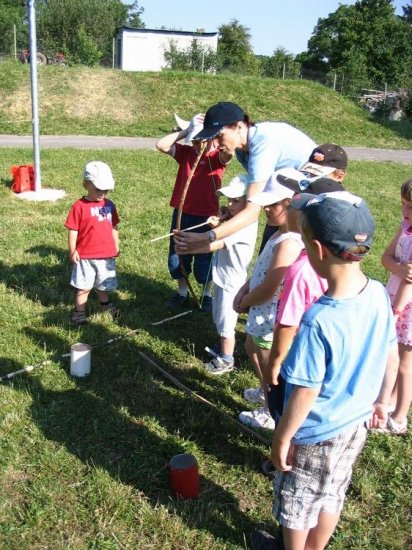
<instances>
[{"instance_id":1,"label":"large bushy green tree between metal pole and white building","mask_svg":"<svg viewBox=\"0 0 412 550\"><path fill-rule=\"evenodd\" d=\"M111 59L116 29L137 21L143 8L121 0L37 0L39 45L69 61L94 65ZM128 19L130 18L130 19Z\"/></svg>"}]
</instances>

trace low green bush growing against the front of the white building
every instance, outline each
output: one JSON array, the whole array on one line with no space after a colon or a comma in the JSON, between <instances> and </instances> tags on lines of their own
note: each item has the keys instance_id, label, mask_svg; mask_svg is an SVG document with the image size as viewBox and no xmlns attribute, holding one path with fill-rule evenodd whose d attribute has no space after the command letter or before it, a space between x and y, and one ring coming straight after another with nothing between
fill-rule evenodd
<instances>
[{"instance_id":1,"label":"low green bush growing against the front of the white building","mask_svg":"<svg viewBox=\"0 0 412 550\"><path fill-rule=\"evenodd\" d=\"M170 40L169 47L164 52L168 69L174 71L202 71L216 70L216 54L209 46L204 46L196 38L189 48L179 50L176 41Z\"/></svg>"}]
</instances>

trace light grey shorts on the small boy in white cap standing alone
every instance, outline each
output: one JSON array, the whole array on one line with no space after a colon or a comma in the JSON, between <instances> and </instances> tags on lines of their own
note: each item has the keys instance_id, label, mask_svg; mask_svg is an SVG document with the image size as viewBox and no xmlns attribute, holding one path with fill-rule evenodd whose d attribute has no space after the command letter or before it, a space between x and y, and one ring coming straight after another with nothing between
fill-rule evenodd
<instances>
[{"instance_id":1,"label":"light grey shorts on the small boy in white cap standing alone","mask_svg":"<svg viewBox=\"0 0 412 550\"><path fill-rule=\"evenodd\" d=\"M79 290L116 290L116 259L80 260L73 265L70 284Z\"/></svg>"}]
</instances>

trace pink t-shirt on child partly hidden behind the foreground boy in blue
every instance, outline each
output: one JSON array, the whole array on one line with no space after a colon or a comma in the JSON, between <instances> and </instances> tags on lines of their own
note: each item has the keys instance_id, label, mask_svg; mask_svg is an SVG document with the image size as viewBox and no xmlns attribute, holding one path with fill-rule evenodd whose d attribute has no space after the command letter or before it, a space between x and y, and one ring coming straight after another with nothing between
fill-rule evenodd
<instances>
[{"instance_id":1,"label":"pink t-shirt on child partly hidden behind the foreground boy in blue","mask_svg":"<svg viewBox=\"0 0 412 550\"><path fill-rule=\"evenodd\" d=\"M299 326L305 311L327 288L327 281L319 277L309 263L306 250L302 250L286 270L276 322L290 327Z\"/></svg>"}]
</instances>

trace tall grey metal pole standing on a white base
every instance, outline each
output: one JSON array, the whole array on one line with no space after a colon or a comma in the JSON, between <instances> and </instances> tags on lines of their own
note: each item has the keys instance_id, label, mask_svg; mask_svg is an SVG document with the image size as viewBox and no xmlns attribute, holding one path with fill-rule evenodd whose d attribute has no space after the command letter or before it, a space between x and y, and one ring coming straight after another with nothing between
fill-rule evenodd
<instances>
[{"instance_id":1,"label":"tall grey metal pole standing on a white base","mask_svg":"<svg viewBox=\"0 0 412 550\"><path fill-rule=\"evenodd\" d=\"M30 81L31 81L31 112L33 127L33 159L34 159L34 190L41 189L40 173L40 139L39 139L39 104L37 88L37 37L35 0L27 0L29 10L30 32Z\"/></svg>"}]
</instances>

